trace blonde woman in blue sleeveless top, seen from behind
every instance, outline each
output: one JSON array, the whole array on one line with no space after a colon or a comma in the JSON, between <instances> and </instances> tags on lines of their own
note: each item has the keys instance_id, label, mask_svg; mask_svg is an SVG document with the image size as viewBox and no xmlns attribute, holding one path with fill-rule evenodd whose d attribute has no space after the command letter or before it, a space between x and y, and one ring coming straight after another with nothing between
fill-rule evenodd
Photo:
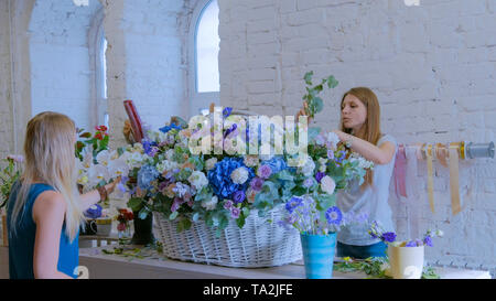
<instances>
[{"instance_id":1,"label":"blonde woman in blue sleeveless top, seen from behind","mask_svg":"<svg viewBox=\"0 0 496 301\"><path fill-rule=\"evenodd\" d=\"M8 203L11 279L77 278L83 213L106 198L116 182L79 195L75 168L76 127L45 111L32 118L24 141L24 171Z\"/></svg>"}]
</instances>

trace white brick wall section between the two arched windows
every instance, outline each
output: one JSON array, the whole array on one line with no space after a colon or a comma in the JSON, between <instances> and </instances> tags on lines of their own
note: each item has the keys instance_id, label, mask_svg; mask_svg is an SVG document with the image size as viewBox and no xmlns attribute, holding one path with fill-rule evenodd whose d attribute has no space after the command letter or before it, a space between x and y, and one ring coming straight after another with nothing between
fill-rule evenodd
<instances>
[{"instance_id":1,"label":"white brick wall section between the two arched windows","mask_svg":"<svg viewBox=\"0 0 496 301\"><path fill-rule=\"evenodd\" d=\"M106 2L105 30L112 143L122 143L122 106L132 99L143 121L163 127L188 115L187 31L196 0Z\"/></svg>"}]
</instances>

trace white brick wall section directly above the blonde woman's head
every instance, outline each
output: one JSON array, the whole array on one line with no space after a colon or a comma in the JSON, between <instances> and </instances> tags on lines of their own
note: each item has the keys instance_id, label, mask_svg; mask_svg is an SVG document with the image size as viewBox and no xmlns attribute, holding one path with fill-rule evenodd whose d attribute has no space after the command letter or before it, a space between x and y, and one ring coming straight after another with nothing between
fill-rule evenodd
<instances>
[{"instance_id":1,"label":"white brick wall section directly above the blonde woman's head","mask_svg":"<svg viewBox=\"0 0 496 301\"><path fill-rule=\"evenodd\" d=\"M54 110L93 129L88 30L98 1L36 1L30 22L32 116Z\"/></svg>"}]
</instances>

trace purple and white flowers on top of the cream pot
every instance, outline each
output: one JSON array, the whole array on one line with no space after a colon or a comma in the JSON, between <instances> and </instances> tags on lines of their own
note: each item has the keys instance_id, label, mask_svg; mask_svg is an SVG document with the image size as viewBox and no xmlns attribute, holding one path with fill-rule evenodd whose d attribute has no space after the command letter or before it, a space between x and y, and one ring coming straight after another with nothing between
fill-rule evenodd
<instances>
[{"instance_id":1,"label":"purple and white flowers on top of the cream pot","mask_svg":"<svg viewBox=\"0 0 496 301\"><path fill-rule=\"evenodd\" d=\"M376 221L371 223L370 229L368 230L368 234L373 238L379 238L386 244L390 244L395 247L420 247L420 246L428 246L432 247L432 238L434 237L442 237L443 232L442 230L427 230L425 234L422 236L422 238L411 239L411 240L397 240L397 235L393 232L385 232L380 224Z\"/></svg>"}]
</instances>

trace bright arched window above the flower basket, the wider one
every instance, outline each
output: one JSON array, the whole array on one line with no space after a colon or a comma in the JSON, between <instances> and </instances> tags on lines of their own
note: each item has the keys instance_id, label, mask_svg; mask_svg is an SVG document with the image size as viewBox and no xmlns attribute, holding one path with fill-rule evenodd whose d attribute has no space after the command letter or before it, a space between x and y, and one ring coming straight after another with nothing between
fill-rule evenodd
<instances>
[{"instance_id":1,"label":"bright arched window above the flower basket, the wider one","mask_svg":"<svg viewBox=\"0 0 496 301\"><path fill-rule=\"evenodd\" d=\"M211 103L219 104L217 0L198 1L190 25L190 116L195 116Z\"/></svg>"}]
</instances>

